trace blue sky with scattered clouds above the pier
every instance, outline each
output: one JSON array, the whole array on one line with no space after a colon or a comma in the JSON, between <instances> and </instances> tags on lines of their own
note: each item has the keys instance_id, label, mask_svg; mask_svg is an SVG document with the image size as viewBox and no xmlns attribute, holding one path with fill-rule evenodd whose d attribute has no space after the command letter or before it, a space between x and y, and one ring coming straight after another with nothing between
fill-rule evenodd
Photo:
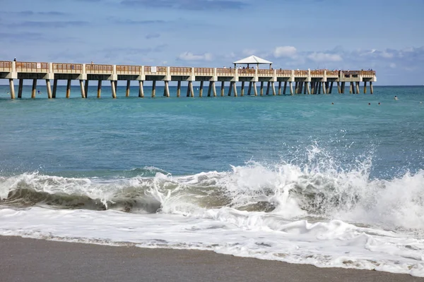
<instances>
[{"instance_id":1,"label":"blue sky with scattered clouds above the pier","mask_svg":"<svg viewBox=\"0 0 424 282\"><path fill-rule=\"evenodd\" d=\"M424 0L0 0L0 60L377 71L424 85Z\"/></svg>"}]
</instances>

